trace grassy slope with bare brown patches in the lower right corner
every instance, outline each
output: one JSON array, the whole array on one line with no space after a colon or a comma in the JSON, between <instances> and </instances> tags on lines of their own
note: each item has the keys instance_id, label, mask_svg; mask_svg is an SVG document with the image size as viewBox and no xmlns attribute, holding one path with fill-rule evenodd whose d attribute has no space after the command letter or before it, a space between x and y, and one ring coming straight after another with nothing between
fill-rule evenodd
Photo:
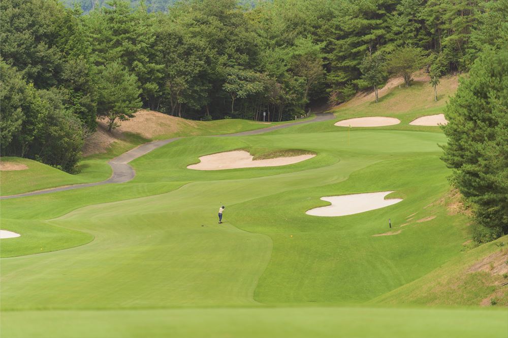
<instances>
[{"instance_id":1,"label":"grassy slope with bare brown patches in the lower right corner","mask_svg":"<svg viewBox=\"0 0 508 338\"><path fill-rule=\"evenodd\" d=\"M475 264L488 257L499 258L501 266L508 265L507 236L467 250L424 277L386 293L372 303L413 305L490 305L494 299L499 306L508 306L508 279L499 273L491 273L495 260L487 259L487 271L471 270ZM501 246L502 244L502 246ZM492 262L492 265L490 265ZM485 302L486 301L486 302Z\"/></svg>"}]
</instances>

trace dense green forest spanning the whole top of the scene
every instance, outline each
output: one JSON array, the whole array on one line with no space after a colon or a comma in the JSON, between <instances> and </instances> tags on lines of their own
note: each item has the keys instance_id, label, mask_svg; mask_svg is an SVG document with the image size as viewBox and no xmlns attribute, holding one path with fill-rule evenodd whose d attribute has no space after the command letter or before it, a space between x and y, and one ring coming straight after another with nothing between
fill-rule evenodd
<instances>
[{"instance_id":1,"label":"dense green forest spanning the whole top of the scene","mask_svg":"<svg viewBox=\"0 0 508 338\"><path fill-rule=\"evenodd\" d=\"M97 116L114 128L141 106L204 120L266 111L282 121L316 100L377 91L389 73L409 85L427 67L437 88L444 73L468 70L508 39L508 0L80 4L0 4L3 155L72 171L79 150L64 154Z\"/></svg>"}]
</instances>

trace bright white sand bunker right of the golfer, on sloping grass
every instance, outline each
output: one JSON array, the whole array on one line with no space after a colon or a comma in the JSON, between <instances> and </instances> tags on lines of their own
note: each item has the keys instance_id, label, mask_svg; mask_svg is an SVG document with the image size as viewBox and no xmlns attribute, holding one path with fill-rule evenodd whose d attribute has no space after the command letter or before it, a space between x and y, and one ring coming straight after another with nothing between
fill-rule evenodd
<instances>
[{"instance_id":1,"label":"bright white sand bunker right of the golfer, on sloping grass","mask_svg":"<svg viewBox=\"0 0 508 338\"><path fill-rule=\"evenodd\" d=\"M323 201L330 202L332 205L310 209L305 213L313 216L345 216L384 208L402 201L400 198L385 200L385 196L390 193L393 192L322 197Z\"/></svg>"}]
</instances>

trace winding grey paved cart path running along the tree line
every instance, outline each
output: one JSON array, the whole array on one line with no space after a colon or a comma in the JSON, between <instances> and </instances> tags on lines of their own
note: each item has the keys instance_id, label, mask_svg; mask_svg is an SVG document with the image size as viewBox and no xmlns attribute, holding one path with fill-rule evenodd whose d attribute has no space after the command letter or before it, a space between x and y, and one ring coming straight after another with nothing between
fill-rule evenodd
<instances>
[{"instance_id":1,"label":"winding grey paved cart path running along the tree line","mask_svg":"<svg viewBox=\"0 0 508 338\"><path fill-rule=\"evenodd\" d=\"M250 130L250 131L242 131L242 132L234 133L234 134L211 135L211 136L213 136L213 137L231 137L231 136L257 135L257 134L268 133L270 131L274 131L277 129L288 128L288 127L292 127L292 126L300 125L300 124L328 121L328 120L332 120L334 118L335 118L335 116L332 113L318 113L318 114L316 114L316 117L312 120L292 122L292 123L287 123L287 124L283 124L283 125L279 125L279 126L272 126L272 127L268 127L268 128L262 128L262 129L256 129L256 130ZM131 149L128 152L123 153L120 156L115 157L114 159L112 159L111 161L108 162L108 164L111 166L111 169L113 169L113 174L111 175L110 178L108 178L105 181L83 183L83 184L73 184L73 185L59 186L59 187L50 188L50 189L37 190L34 192L17 194L17 195L0 196L0 199L7 200L7 199L11 199L11 198L43 195L43 194L56 193L56 192L61 192L61 191L66 191L66 190L81 189L81 188L88 187L88 186L128 182L136 176L136 172L134 171L133 167L131 167L128 164L129 162L137 159L138 157L148 154L149 152L153 151L156 148L162 147L163 145L166 145L166 144L171 143L173 141L179 140L181 138L182 137L173 137L173 138L168 138L168 139L160 140L160 141L147 142L147 143L144 143L140 146L137 146L134 149Z\"/></svg>"}]
</instances>

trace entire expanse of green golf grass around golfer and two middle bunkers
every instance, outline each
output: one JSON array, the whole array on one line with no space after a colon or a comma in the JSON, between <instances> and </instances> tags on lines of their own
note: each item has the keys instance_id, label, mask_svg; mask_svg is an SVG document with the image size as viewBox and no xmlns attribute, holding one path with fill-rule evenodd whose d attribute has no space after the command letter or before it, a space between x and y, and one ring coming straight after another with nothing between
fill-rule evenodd
<instances>
[{"instance_id":1,"label":"entire expanse of green golf grass around golfer and two middle bunkers","mask_svg":"<svg viewBox=\"0 0 508 338\"><path fill-rule=\"evenodd\" d=\"M127 183L3 200L2 229L21 236L1 245L2 336L506 336L505 307L372 303L464 255L468 218L442 202L439 127L349 132L337 120L184 137L131 162ZM235 149L316 156L187 169ZM402 201L305 213L329 205L323 196L387 191Z\"/></svg>"}]
</instances>

